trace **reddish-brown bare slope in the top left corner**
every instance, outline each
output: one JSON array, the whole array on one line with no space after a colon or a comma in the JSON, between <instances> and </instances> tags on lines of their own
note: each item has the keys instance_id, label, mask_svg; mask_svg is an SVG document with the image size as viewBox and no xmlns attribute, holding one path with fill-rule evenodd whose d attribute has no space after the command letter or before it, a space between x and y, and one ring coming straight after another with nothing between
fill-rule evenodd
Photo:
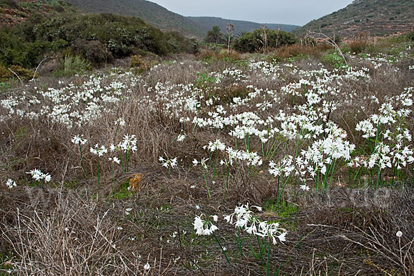
<instances>
[{"instance_id":1,"label":"reddish-brown bare slope in the top left corner","mask_svg":"<svg viewBox=\"0 0 414 276\"><path fill-rule=\"evenodd\" d=\"M26 21L32 14L75 12L76 8L60 0L0 0L0 26L12 26Z\"/></svg>"}]
</instances>

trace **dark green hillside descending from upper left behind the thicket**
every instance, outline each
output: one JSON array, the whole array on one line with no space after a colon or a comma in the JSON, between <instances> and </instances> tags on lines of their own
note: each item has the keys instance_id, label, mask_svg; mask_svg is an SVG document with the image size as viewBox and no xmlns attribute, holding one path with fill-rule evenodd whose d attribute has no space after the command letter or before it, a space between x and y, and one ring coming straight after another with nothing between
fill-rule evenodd
<instances>
[{"instance_id":1,"label":"dark green hillside descending from upper left behind the thicket","mask_svg":"<svg viewBox=\"0 0 414 276\"><path fill-rule=\"evenodd\" d=\"M188 36L202 37L207 29L156 3L145 0L67 0L78 8L93 13L108 12L141 17L146 23L161 30L175 30Z\"/></svg>"}]
</instances>

